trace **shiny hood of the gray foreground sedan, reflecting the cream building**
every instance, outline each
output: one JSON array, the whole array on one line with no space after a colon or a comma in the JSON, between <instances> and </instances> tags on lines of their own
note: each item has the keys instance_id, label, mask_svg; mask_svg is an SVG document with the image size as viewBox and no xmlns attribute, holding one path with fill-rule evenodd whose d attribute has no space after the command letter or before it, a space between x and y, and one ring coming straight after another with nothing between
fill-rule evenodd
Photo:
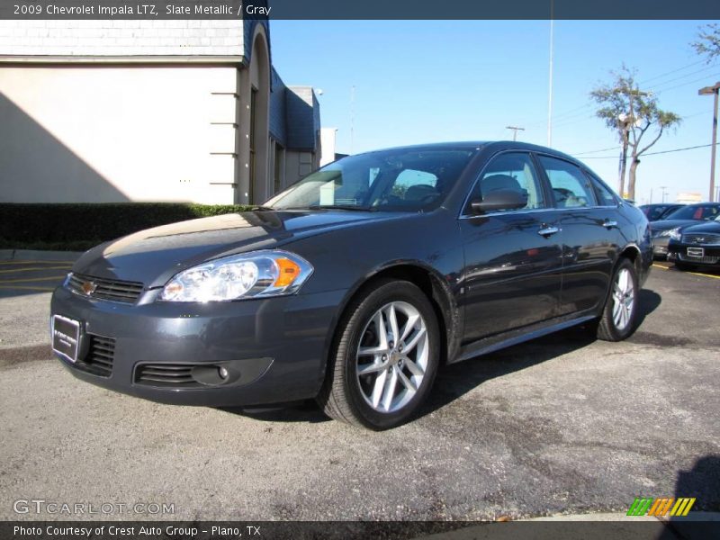
<instances>
[{"instance_id":1,"label":"shiny hood of the gray foreground sedan, reflecting the cream building","mask_svg":"<svg viewBox=\"0 0 720 540\"><path fill-rule=\"evenodd\" d=\"M87 251L73 272L159 287L177 272L209 259L274 249L323 232L393 220L370 211L247 211L140 230Z\"/></svg>"}]
</instances>

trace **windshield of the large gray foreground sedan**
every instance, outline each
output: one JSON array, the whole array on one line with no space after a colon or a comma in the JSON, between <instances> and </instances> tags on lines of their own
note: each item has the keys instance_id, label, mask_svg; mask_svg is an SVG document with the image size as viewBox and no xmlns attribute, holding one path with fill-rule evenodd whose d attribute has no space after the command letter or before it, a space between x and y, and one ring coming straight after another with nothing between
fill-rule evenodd
<instances>
[{"instance_id":1,"label":"windshield of the large gray foreground sedan","mask_svg":"<svg viewBox=\"0 0 720 540\"><path fill-rule=\"evenodd\" d=\"M475 148L405 148L344 157L291 185L264 206L275 210L432 210L445 200L475 152Z\"/></svg>"}]
</instances>

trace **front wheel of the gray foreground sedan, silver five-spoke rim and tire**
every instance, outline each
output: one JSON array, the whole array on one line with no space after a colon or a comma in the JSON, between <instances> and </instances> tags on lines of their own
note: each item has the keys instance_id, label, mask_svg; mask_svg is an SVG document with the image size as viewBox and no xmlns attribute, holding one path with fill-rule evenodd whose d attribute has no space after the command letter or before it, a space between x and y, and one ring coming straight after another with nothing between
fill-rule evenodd
<instances>
[{"instance_id":1,"label":"front wheel of the gray foreground sedan, silver five-spoke rim and tire","mask_svg":"<svg viewBox=\"0 0 720 540\"><path fill-rule=\"evenodd\" d=\"M427 399L439 357L437 317L425 293L407 281L374 282L338 324L317 401L330 418L375 430L395 428Z\"/></svg>"}]
</instances>

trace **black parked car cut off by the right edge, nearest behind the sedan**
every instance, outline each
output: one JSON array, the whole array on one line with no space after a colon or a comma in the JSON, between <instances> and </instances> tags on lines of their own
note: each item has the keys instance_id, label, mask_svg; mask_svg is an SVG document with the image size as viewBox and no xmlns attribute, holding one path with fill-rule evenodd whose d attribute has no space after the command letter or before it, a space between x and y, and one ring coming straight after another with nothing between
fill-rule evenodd
<instances>
[{"instance_id":1,"label":"black parked car cut off by the right edge, nearest behind the sedan","mask_svg":"<svg viewBox=\"0 0 720 540\"><path fill-rule=\"evenodd\" d=\"M668 251L668 259L680 270L720 267L720 214L715 220L682 229L680 238L671 238Z\"/></svg>"}]
</instances>

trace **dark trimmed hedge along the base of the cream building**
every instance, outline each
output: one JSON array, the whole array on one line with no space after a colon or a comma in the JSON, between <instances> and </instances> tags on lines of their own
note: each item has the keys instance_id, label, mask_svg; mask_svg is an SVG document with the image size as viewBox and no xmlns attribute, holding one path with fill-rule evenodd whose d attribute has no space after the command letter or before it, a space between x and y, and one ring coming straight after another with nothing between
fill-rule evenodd
<instances>
[{"instance_id":1,"label":"dark trimmed hedge along the base of the cream building","mask_svg":"<svg viewBox=\"0 0 720 540\"><path fill-rule=\"evenodd\" d=\"M81 251L138 230L250 208L175 202L0 203L0 248Z\"/></svg>"}]
</instances>

